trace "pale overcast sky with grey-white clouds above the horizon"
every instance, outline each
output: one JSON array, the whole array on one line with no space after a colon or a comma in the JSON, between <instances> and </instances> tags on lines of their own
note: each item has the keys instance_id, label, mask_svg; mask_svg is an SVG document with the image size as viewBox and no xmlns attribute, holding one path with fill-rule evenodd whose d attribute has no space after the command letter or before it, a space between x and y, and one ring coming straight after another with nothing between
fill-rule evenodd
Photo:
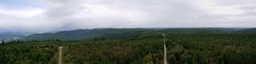
<instances>
[{"instance_id":1,"label":"pale overcast sky with grey-white clouds above the horizon","mask_svg":"<svg viewBox=\"0 0 256 64\"><path fill-rule=\"evenodd\" d=\"M255 28L256 0L0 0L0 32Z\"/></svg>"}]
</instances>

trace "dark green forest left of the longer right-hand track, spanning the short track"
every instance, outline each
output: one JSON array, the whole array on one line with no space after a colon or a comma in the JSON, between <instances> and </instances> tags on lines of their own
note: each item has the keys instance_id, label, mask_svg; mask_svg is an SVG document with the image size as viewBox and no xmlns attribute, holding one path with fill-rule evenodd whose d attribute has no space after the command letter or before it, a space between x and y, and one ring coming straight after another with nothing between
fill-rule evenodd
<instances>
[{"instance_id":1,"label":"dark green forest left of the longer right-hand track, spanning the short track","mask_svg":"<svg viewBox=\"0 0 256 64\"><path fill-rule=\"evenodd\" d=\"M63 64L159 64L163 59L162 36L154 34L117 40L16 40L0 46L3 64L56 64L59 46Z\"/></svg>"}]
</instances>

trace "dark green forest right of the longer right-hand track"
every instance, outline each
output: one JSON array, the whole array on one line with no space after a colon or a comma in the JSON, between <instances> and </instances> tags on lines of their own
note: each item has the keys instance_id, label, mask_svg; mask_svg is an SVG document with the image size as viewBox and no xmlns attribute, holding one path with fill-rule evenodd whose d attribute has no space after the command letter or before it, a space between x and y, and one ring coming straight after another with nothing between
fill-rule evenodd
<instances>
[{"instance_id":1,"label":"dark green forest right of the longer right-hand track","mask_svg":"<svg viewBox=\"0 0 256 64\"><path fill-rule=\"evenodd\" d=\"M254 64L256 33L170 32L167 59L172 64Z\"/></svg>"}]
</instances>

